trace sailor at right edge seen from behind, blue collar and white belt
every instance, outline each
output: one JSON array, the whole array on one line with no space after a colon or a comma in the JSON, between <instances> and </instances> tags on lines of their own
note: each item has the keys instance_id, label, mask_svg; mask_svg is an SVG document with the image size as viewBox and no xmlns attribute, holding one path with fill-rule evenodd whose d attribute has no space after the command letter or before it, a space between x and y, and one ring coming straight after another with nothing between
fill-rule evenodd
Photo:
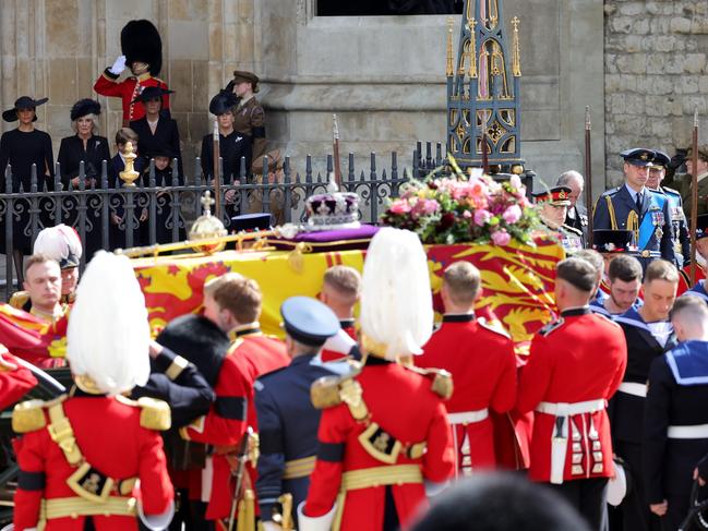
<instances>
[{"instance_id":1,"label":"sailor at right edge seen from behind, blue collar and white belt","mask_svg":"<svg viewBox=\"0 0 708 531\"><path fill-rule=\"evenodd\" d=\"M643 455L648 502L667 531L686 517L693 471L708 451L708 305L682 297L671 322L681 345L651 363Z\"/></svg>"}]
</instances>

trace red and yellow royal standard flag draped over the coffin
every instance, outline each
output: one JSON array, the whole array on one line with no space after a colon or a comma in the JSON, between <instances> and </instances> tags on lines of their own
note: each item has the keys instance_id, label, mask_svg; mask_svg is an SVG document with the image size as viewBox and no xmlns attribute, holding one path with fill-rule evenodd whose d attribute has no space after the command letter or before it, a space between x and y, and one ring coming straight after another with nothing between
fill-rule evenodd
<instances>
[{"instance_id":1,"label":"red and yellow royal standard flag draped over the coffin","mask_svg":"<svg viewBox=\"0 0 708 531\"><path fill-rule=\"evenodd\" d=\"M564 257L557 243L545 237L536 245L427 245L435 310L442 312L440 287L445 267L459 260L475 264L482 275L477 312L496 321L514 338L520 352L541 326L553 318L555 265ZM261 327L283 336L280 304L293 295L316 297L324 271L337 264L359 270L364 251L298 254L297 251L226 251L211 256L184 255L133 261L145 293L151 327L158 333L170 319L202 309L203 286L211 278L236 271L259 282L263 291Z\"/></svg>"}]
</instances>

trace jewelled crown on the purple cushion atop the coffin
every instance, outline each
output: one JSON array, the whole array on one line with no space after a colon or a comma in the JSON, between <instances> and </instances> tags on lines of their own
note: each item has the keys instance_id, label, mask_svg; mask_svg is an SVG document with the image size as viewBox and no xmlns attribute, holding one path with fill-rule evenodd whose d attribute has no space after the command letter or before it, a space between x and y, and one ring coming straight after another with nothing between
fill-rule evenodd
<instances>
[{"instance_id":1,"label":"jewelled crown on the purple cushion atop the coffin","mask_svg":"<svg viewBox=\"0 0 708 531\"><path fill-rule=\"evenodd\" d=\"M359 195L338 192L334 181L327 184L327 193L308 197L305 202L310 230L335 230L358 228Z\"/></svg>"}]
</instances>

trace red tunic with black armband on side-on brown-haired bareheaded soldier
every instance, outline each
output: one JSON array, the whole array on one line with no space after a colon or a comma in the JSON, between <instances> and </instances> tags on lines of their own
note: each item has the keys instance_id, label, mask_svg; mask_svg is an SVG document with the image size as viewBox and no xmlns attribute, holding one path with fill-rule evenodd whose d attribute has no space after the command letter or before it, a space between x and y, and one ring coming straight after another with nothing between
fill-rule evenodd
<instances>
[{"instance_id":1,"label":"red tunic with black armband on side-on brown-haired bareheaded soldier","mask_svg":"<svg viewBox=\"0 0 708 531\"><path fill-rule=\"evenodd\" d=\"M257 431L253 384L263 374L290 363L285 343L264 336L257 324L231 334L229 348L214 389L216 401L212 410L180 431L184 438L217 446L213 458L213 475L206 518L227 518L231 507L233 485L229 485L230 468L225 455L233 451L250 426ZM255 481L255 469L248 468Z\"/></svg>"}]
</instances>

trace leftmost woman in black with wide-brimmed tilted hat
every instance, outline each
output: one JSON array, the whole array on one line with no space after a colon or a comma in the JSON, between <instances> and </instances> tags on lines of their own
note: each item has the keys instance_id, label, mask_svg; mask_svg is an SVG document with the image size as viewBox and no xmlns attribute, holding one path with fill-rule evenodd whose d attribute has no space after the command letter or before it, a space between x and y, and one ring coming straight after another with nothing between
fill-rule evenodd
<instances>
[{"instance_id":1,"label":"leftmost woman in black with wide-brimmed tilted hat","mask_svg":"<svg viewBox=\"0 0 708 531\"><path fill-rule=\"evenodd\" d=\"M36 108L46 104L49 98L32 99L29 96L17 98L12 109L2 113L5 122L20 121L17 129L8 131L0 137L0 192L5 192L4 171L8 164L12 169L12 192L29 192L32 166L37 166L38 190L51 185L55 157L51 149L51 137L44 131L35 129ZM14 210L20 214L13 224L13 254L20 281L23 280L23 254L32 253L32 234L29 233L29 202L15 201ZM4 220L0 220L0 252L5 253Z\"/></svg>"}]
</instances>

